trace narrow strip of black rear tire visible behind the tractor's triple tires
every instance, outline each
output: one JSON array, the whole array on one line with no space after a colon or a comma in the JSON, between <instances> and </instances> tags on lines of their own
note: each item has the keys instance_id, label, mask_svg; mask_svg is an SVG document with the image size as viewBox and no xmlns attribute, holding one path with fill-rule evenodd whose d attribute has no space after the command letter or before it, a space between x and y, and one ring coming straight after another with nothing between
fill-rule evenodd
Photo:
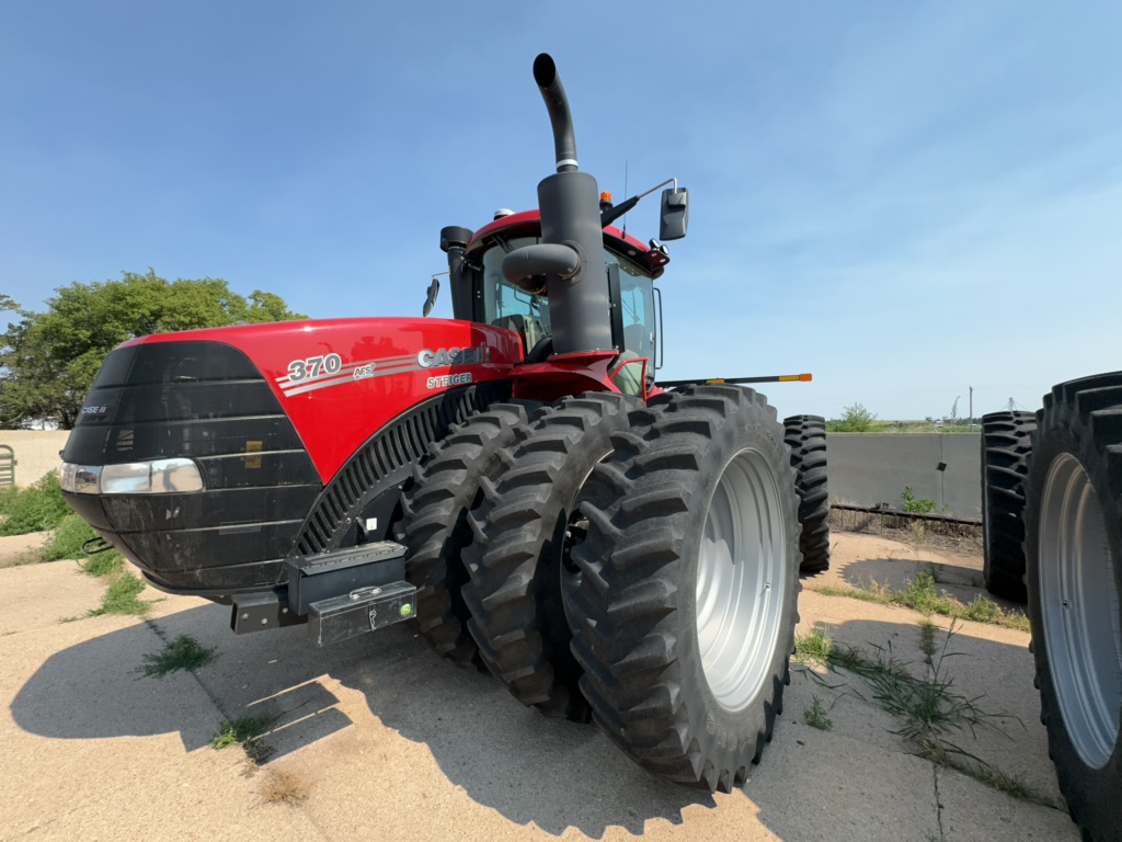
<instances>
[{"instance_id":1,"label":"narrow strip of black rear tire visible behind the tractor's triple tires","mask_svg":"<svg viewBox=\"0 0 1122 842\"><path fill-rule=\"evenodd\" d=\"M830 495L826 487L826 419L792 415L783 420L787 446L791 448L794 489L799 494L803 575L830 569Z\"/></svg>"}]
</instances>

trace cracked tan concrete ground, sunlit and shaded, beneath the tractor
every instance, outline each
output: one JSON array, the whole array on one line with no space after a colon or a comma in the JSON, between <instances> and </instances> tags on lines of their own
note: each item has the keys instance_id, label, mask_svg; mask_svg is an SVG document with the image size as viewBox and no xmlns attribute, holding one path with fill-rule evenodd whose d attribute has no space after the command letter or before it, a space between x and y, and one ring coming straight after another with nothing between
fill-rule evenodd
<instances>
[{"instance_id":1,"label":"cracked tan concrete ground, sunlit and shaded, beneath the tractor","mask_svg":"<svg viewBox=\"0 0 1122 842\"><path fill-rule=\"evenodd\" d=\"M885 541L837 536L830 575L919 552ZM234 637L227 610L150 592L147 622L61 623L96 605L103 587L72 562L2 569L0 582L17 595L0 635L0 840L1078 839L1066 812L916 757L844 675L824 685L795 669L751 780L708 796L652 778L594 727L523 708L489 677L435 657L410 624L318 650L300 628ZM826 623L836 640L921 658L914 612L811 591L800 612L802 630ZM178 634L217 647L217 660L140 678L142 656ZM958 630L956 687L1003 716L955 739L1058 802L1027 642L1008 629ZM815 696L830 731L803 722ZM223 719L256 712L277 717L264 770L209 747ZM267 803L269 769L294 776L306 798Z\"/></svg>"}]
</instances>

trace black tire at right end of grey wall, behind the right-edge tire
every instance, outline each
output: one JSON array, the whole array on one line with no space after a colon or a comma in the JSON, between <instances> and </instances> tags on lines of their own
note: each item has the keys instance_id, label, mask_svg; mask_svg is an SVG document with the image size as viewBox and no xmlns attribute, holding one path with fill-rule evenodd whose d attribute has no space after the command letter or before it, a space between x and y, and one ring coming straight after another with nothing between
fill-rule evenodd
<instances>
[{"instance_id":1,"label":"black tire at right end of grey wall, behind the right-edge tire","mask_svg":"<svg viewBox=\"0 0 1122 842\"><path fill-rule=\"evenodd\" d=\"M1024 603L1024 477L1034 412L982 417L982 579L995 596Z\"/></svg>"}]
</instances>

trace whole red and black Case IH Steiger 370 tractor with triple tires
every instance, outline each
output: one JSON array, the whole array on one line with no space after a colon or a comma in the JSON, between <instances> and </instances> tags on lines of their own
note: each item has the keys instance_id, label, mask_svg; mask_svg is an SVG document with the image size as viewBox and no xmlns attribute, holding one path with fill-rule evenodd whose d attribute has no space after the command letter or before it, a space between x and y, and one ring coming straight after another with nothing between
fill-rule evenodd
<instances>
[{"instance_id":1,"label":"whole red and black Case IH Steiger 370 tractor with triple tires","mask_svg":"<svg viewBox=\"0 0 1122 842\"><path fill-rule=\"evenodd\" d=\"M645 194L601 201L548 55L534 79L557 173L540 211L441 231L454 319L125 342L63 487L236 632L324 644L415 616L524 704L728 791L781 708L800 565L828 565L825 425L732 382L656 384L668 250L611 226ZM661 239L687 195L663 192Z\"/></svg>"}]
</instances>

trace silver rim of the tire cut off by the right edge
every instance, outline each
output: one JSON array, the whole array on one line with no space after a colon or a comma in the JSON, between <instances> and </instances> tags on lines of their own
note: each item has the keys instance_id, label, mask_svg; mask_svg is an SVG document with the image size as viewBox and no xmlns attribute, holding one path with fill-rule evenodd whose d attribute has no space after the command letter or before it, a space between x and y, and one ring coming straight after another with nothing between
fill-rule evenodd
<instances>
[{"instance_id":1,"label":"silver rim of the tire cut off by the right edge","mask_svg":"<svg viewBox=\"0 0 1122 842\"><path fill-rule=\"evenodd\" d=\"M1118 591L1102 507L1079 461L1048 470L1038 533L1040 613L1064 726L1083 762L1114 752L1122 707Z\"/></svg>"}]
</instances>

